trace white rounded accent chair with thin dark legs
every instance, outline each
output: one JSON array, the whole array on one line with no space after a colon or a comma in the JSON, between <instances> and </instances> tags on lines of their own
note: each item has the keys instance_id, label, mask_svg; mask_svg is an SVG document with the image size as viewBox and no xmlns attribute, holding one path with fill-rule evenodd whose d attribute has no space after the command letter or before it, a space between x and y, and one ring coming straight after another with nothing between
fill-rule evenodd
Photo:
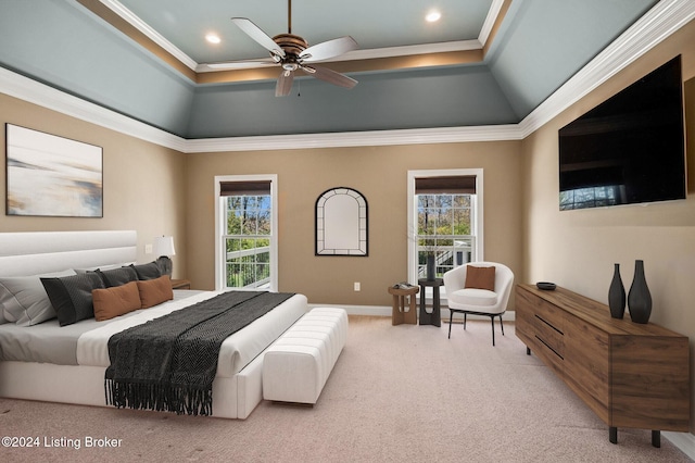
<instances>
[{"instance_id":1,"label":"white rounded accent chair with thin dark legs","mask_svg":"<svg viewBox=\"0 0 695 463\"><path fill-rule=\"evenodd\" d=\"M466 288L466 273L469 266L495 267L494 291L488 289ZM507 310L507 302L511 293L514 273L504 264L496 262L470 262L452 268L444 274L444 288L448 301L448 338L452 337L452 318L454 313L464 314L464 329L466 329L466 316L485 315L492 322L492 346L495 345L495 316L500 317L500 326L504 336L502 314Z\"/></svg>"}]
</instances>

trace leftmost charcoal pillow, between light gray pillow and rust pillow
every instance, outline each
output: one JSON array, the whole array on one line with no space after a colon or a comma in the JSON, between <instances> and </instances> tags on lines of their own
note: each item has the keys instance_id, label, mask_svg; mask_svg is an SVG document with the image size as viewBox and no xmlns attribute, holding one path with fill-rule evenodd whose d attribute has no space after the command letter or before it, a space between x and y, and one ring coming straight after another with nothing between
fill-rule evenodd
<instances>
[{"instance_id":1,"label":"leftmost charcoal pillow, between light gray pillow and rust pillow","mask_svg":"<svg viewBox=\"0 0 695 463\"><path fill-rule=\"evenodd\" d=\"M41 283L55 309L61 326L94 317L91 290L104 287L96 273L88 272L63 278L41 278Z\"/></svg>"}]
</instances>

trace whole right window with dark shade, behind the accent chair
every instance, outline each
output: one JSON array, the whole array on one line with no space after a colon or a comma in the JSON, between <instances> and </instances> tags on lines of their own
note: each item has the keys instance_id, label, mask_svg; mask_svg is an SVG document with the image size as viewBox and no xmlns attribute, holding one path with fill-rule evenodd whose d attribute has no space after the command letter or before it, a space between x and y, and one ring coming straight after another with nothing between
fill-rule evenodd
<instances>
[{"instance_id":1,"label":"whole right window with dark shade, behind the accent chair","mask_svg":"<svg viewBox=\"0 0 695 463\"><path fill-rule=\"evenodd\" d=\"M482 170L408 172L408 279L426 276L434 255L437 277L483 260Z\"/></svg>"}]
</instances>

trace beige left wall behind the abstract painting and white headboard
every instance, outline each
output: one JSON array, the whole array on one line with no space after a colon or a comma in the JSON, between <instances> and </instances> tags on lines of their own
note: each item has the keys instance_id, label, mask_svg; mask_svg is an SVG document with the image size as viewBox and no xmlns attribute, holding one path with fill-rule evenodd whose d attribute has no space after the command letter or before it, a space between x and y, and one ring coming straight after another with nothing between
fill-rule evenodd
<instances>
[{"instance_id":1,"label":"beige left wall behind the abstract painting and white headboard","mask_svg":"<svg viewBox=\"0 0 695 463\"><path fill-rule=\"evenodd\" d=\"M155 256L144 245L156 235L173 235L185 251L185 155L134 137L75 120L0 93L0 146L5 149L4 124L11 123L103 148L103 218L23 217L4 214L5 162L0 232L134 229L138 232L138 262ZM174 276L185 275L186 253L173 258Z\"/></svg>"}]
</instances>

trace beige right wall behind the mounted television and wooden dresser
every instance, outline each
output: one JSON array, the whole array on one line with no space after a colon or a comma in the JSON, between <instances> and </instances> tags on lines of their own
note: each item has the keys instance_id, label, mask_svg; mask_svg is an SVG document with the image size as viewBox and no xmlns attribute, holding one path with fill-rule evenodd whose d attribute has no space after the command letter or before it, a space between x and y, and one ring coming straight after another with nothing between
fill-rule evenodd
<instances>
[{"instance_id":1,"label":"beige right wall behind the mounted television and wooden dresser","mask_svg":"<svg viewBox=\"0 0 695 463\"><path fill-rule=\"evenodd\" d=\"M654 323L695 338L695 22L523 141L526 283L552 280L607 302L614 263L629 290L644 260ZM584 211L558 210L557 130L641 76L682 53L686 97L688 199ZM695 371L691 342L691 375ZM695 381L693 390L695 390ZM691 398L695 397L691 393ZM695 404L691 411L695 416ZM691 431L695 425L691 426Z\"/></svg>"}]
</instances>

